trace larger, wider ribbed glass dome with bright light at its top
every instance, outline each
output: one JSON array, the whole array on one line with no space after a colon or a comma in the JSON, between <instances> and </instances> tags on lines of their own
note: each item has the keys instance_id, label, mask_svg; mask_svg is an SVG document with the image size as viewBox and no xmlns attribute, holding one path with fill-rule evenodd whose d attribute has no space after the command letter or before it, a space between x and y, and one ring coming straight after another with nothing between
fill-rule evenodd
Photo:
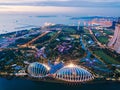
<instances>
[{"instance_id":1,"label":"larger, wider ribbed glass dome with bright light at its top","mask_svg":"<svg viewBox=\"0 0 120 90\"><path fill-rule=\"evenodd\" d=\"M55 73L55 78L67 82L87 82L94 76L86 69L79 66L65 66Z\"/></svg>"}]
</instances>

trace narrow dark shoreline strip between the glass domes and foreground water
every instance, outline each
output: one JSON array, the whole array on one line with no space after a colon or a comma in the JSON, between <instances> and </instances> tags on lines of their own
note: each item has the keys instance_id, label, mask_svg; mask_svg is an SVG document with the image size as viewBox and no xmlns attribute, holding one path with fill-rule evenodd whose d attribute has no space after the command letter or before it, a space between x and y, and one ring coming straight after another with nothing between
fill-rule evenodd
<instances>
[{"instance_id":1,"label":"narrow dark shoreline strip between the glass domes and foreground water","mask_svg":"<svg viewBox=\"0 0 120 90\"><path fill-rule=\"evenodd\" d=\"M23 80L30 80L34 82L44 82L44 83L58 83L58 84L78 84L78 85L84 85L84 84L95 84L95 83L120 83L118 80L106 80L105 78L95 78L94 80L88 81L88 82L65 82L62 80L57 80L54 78L45 78L45 79L38 79L38 78L32 78L27 75L25 76L15 76L15 75L0 75L0 79L6 79L6 80L15 80L15 79L23 79Z\"/></svg>"}]
</instances>

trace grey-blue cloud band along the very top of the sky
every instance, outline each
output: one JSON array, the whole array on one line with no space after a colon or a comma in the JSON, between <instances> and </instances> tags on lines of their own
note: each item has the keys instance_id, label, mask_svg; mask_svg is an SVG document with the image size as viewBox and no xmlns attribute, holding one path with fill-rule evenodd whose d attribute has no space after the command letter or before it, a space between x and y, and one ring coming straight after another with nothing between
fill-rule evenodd
<instances>
[{"instance_id":1,"label":"grey-blue cloud band along the very top of the sky","mask_svg":"<svg viewBox=\"0 0 120 90\"><path fill-rule=\"evenodd\" d=\"M0 5L120 7L120 0L0 0Z\"/></svg>"}]
</instances>

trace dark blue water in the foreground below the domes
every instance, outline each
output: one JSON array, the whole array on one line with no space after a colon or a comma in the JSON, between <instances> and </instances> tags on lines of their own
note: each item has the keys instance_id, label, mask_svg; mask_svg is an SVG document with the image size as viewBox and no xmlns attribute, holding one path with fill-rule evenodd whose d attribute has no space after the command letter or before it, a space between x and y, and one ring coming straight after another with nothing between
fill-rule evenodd
<instances>
[{"instance_id":1,"label":"dark blue water in the foreground below the domes","mask_svg":"<svg viewBox=\"0 0 120 90\"><path fill-rule=\"evenodd\" d=\"M98 82L82 85L36 82L0 78L0 90L120 90L119 82Z\"/></svg>"}]
</instances>

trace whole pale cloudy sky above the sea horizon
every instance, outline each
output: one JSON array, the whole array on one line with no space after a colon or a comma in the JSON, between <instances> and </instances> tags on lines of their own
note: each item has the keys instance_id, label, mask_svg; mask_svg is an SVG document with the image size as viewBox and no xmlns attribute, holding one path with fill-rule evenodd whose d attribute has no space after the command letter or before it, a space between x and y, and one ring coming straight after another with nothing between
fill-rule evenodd
<instances>
[{"instance_id":1,"label":"whole pale cloudy sky above the sea horizon","mask_svg":"<svg viewBox=\"0 0 120 90\"><path fill-rule=\"evenodd\" d=\"M120 16L120 0L0 0L0 12Z\"/></svg>"}]
</instances>

